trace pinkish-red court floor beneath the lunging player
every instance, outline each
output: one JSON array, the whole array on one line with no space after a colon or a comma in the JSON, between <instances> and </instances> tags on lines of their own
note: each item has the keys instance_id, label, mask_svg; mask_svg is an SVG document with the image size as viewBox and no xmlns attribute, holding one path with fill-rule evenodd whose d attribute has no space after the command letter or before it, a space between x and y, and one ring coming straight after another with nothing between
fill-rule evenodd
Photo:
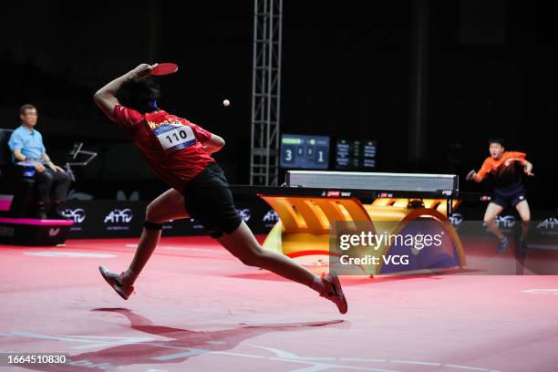
<instances>
[{"instance_id":1,"label":"pinkish-red court floor beneath the lunging player","mask_svg":"<svg viewBox=\"0 0 558 372\"><path fill-rule=\"evenodd\" d=\"M340 315L210 238L165 238L124 301L98 264L134 243L0 246L0 350L71 359L0 371L558 371L558 276L344 276Z\"/></svg>"}]
</instances>

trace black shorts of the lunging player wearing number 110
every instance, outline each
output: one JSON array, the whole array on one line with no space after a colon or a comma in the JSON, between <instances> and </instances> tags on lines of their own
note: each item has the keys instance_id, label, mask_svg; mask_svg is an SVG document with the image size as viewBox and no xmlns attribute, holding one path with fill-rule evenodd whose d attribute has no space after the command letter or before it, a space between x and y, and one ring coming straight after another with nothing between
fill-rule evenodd
<instances>
[{"instance_id":1,"label":"black shorts of the lunging player wearing number 110","mask_svg":"<svg viewBox=\"0 0 558 372\"><path fill-rule=\"evenodd\" d=\"M243 222L234 208L229 182L217 164L209 165L188 182L182 195L190 217L202 223L212 238L233 233Z\"/></svg>"}]
</instances>

